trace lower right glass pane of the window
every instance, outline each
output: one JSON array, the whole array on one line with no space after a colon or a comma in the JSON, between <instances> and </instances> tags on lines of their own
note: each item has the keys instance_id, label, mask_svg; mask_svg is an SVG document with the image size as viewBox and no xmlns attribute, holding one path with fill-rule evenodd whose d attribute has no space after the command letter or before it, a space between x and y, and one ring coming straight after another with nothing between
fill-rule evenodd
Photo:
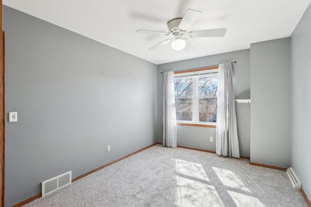
<instances>
[{"instance_id":1,"label":"lower right glass pane of the window","mask_svg":"<svg viewBox=\"0 0 311 207\"><path fill-rule=\"evenodd\" d=\"M217 99L200 98L199 100L199 121L216 122Z\"/></svg>"}]
</instances>

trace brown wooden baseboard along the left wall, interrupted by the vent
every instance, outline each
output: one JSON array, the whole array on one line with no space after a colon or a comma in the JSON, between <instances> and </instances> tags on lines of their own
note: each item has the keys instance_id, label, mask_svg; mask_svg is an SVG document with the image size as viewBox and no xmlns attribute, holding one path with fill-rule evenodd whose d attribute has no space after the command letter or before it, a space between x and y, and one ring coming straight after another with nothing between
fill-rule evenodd
<instances>
[{"instance_id":1,"label":"brown wooden baseboard along the left wall, interrupted by the vent","mask_svg":"<svg viewBox=\"0 0 311 207\"><path fill-rule=\"evenodd\" d=\"M144 147L144 148L142 148L142 149L139 149L138 151L133 152L133 153L131 153L131 154L129 154L129 155L126 155L126 156L124 156L124 157L122 157L122 158L120 158L120 159L117 159L117 160L115 160L115 161L109 162L108 164L105 164L105 165L103 165L103 166L101 166L101 167L98 167L98 168L96 168L96 169L94 169L94 170L92 170L92 171L89 171L89 172L87 172L87 173L85 173L85 174L83 174L83 175L77 176L77 177L73 178L73 179L71 180L71 182L77 181L77 180L81 179L82 177L85 177L86 175L90 175L90 174L92 174L92 173L94 173L94 172L96 172L96 171L99 171L99 170L101 170L101 169L103 169L103 168L105 168L105 167L107 167L107 166L109 166L109 165L112 165L113 163L116 163L116 162L118 162L118 161L120 161L120 160L122 160L122 159L128 158L128 157L130 157L130 156L132 156L132 155L134 155L134 154L136 154L136 153L138 153L138 152L141 152L141 151L143 151L143 150L145 150L145 149L148 149L149 147L152 147L152 146L154 146L154 145L156 145L156 144L158 144L158 143L154 143L154 144L151 144L151 145L149 145L149 146L146 146L146 147ZM35 195L35 196L31 197L31 198L28 198L28 199L26 199L26 200L24 200L24 201L22 201L22 202L20 202L20 203L18 203L18 204L16 204L16 205L12 206L12 207L21 207L21 206L23 206L23 205L25 205L25 204L28 204L28 203L30 203L30 202L32 202L32 201L34 201L34 200L36 200L36 199L38 199L38 198L40 198L40 197L42 197L42 194L41 194L41 193L40 193L40 194L37 194L37 195Z\"/></svg>"}]
</instances>

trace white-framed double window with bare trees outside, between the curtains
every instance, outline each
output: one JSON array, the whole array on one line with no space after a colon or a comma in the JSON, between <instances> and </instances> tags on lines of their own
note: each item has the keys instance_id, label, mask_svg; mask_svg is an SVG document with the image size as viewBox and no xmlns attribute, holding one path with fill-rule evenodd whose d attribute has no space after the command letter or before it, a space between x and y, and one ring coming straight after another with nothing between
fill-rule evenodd
<instances>
[{"instance_id":1,"label":"white-framed double window with bare trees outside, between the curtains","mask_svg":"<svg viewBox=\"0 0 311 207\"><path fill-rule=\"evenodd\" d=\"M214 72L186 77L185 74L182 74L183 77L176 75L174 90L177 122L215 124L218 74Z\"/></svg>"}]
</instances>

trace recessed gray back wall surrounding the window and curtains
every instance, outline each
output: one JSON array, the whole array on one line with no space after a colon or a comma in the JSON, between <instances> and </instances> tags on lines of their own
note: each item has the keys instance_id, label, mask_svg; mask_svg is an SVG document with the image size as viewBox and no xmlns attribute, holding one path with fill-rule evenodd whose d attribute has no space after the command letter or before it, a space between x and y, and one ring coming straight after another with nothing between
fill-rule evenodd
<instances>
[{"instance_id":1,"label":"recessed gray back wall surrounding the window and curtains","mask_svg":"<svg viewBox=\"0 0 311 207\"><path fill-rule=\"evenodd\" d=\"M233 79L235 97L237 99L250 98L250 62L249 49L228 52L218 55L211 55L201 58L195 58L185 61L178 61L168 64L158 65L157 81L158 81L158 142L162 143L162 85L163 71L175 71L190 69L196 67L204 67L221 63L233 64ZM250 156L250 104L236 104L238 136L241 156ZM215 151L215 128L208 127L192 127L178 126L177 127L177 144L180 146L194 147ZM209 137L214 137L214 142L209 142Z\"/></svg>"}]
</instances>

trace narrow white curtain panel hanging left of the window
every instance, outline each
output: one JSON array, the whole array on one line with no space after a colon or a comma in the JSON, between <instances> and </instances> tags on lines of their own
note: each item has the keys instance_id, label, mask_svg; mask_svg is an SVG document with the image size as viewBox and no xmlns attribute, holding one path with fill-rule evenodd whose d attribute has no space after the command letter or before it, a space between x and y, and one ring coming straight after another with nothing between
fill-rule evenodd
<instances>
[{"instance_id":1,"label":"narrow white curtain panel hanging left of the window","mask_svg":"<svg viewBox=\"0 0 311 207\"><path fill-rule=\"evenodd\" d=\"M177 146L174 73L164 72L163 77L163 146Z\"/></svg>"}]
</instances>

